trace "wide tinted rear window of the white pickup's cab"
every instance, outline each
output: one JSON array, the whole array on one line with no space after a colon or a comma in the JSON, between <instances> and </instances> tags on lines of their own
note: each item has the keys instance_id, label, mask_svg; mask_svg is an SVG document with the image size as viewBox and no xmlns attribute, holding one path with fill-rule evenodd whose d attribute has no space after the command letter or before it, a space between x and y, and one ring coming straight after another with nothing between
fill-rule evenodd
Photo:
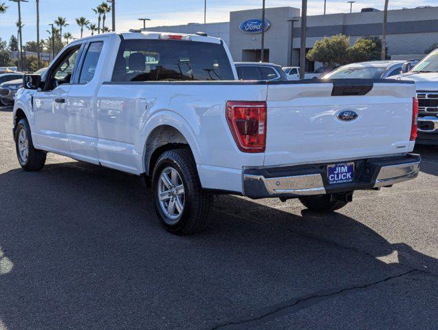
<instances>
[{"instance_id":1,"label":"wide tinted rear window of the white pickup's cab","mask_svg":"<svg viewBox=\"0 0 438 330\"><path fill-rule=\"evenodd\" d=\"M221 44L124 40L120 45L112 80L234 80L234 74Z\"/></svg>"}]
</instances>

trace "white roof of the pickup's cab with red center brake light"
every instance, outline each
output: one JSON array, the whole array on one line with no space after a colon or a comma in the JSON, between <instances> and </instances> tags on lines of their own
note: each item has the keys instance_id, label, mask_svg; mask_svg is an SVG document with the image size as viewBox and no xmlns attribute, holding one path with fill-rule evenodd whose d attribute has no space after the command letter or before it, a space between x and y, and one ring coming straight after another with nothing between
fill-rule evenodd
<instances>
[{"instance_id":1,"label":"white roof of the pickup's cab with red center brake light","mask_svg":"<svg viewBox=\"0 0 438 330\"><path fill-rule=\"evenodd\" d=\"M201 32L200 32L201 33ZM185 34L185 33L174 33L174 32L151 32L151 31L132 31L132 32L107 32L103 34L97 34L94 36L86 36L82 39L76 39L73 43L77 43L80 41L85 41L89 39L97 39L101 36L122 36L123 39L132 40L132 39L174 39L177 36L181 36L184 41L199 41L203 43L221 43L222 40L216 38L214 36L204 36L199 34ZM176 39L176 38L175 38Z\"/></svg>"}]
</instances>

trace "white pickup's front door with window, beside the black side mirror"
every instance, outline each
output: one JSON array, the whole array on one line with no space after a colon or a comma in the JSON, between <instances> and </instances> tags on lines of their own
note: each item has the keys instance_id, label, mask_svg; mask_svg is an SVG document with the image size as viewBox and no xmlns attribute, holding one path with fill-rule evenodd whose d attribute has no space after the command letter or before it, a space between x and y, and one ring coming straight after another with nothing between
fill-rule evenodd
<instances>
[{"instance_id":1,"label":"white pickup's front door with window, beside the black side mirror","mask_svg":"<svg viewBox=\"0 0 438 330\"><path fill-rule=\"evenodd\" d=\"M48 69L44 88L34 94L35 138L46 151L68 154L67 95L74 75L80 45L73 45L58 56Z\"/></svg>"}]
</instances>

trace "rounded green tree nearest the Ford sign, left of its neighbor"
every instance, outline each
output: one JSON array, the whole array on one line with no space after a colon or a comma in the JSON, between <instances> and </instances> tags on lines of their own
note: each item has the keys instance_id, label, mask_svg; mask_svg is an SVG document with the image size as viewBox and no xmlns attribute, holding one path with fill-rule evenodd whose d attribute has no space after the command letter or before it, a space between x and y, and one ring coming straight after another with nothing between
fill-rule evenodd
<instances>
[{"instance_id":1,"label":"rounded green tree nearest the Ford sign, left of its neighbor","mask_svg":"<svg viewBox=\"0 0 438 330\"><path fill-rule=\"evenodd\" d=\"M347 63L347 50L350 38L336 34L330 38L324 37L316 41L314 47L307 53L309 61L321 62L327 67L335 67Z\"/></svg>"}]
</instances>

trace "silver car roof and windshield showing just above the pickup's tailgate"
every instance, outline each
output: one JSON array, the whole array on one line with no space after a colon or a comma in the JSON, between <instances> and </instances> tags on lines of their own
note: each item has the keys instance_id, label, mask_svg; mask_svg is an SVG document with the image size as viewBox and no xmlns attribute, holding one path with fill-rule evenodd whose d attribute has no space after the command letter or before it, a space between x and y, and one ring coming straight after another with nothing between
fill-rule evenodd
<instances>
[{"instance_id":1,"label":"silver car roof and windshield showing just above the pickup's tailgate","mask_svg":"<svg viewBox=\"0 0 438 330\"><path fill-rule=\"evenodd\" d=\"M404 61L369 61L344 65L325 75L324 79L375 79L396 76L402 72Z\"/></svg>"}]
</instances>

